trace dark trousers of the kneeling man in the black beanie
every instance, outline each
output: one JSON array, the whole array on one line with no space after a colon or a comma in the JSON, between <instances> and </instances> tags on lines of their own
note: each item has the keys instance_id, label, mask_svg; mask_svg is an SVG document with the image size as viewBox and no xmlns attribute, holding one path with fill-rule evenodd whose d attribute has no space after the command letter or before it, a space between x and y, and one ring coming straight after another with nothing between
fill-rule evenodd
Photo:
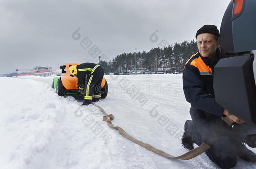
<instances>
[{"instance_id":1,"label":"dark trousers of the kneeling man in the black beanie","mask_svg":"<svg viewBox=\"0 0 256 169\"><path fill-rule=\"evenodd\" d=\"M247 124L228 126L221 117L207 114L199 109L190 108L192 124L192 140L198 146L206 143L211 146L205 154L217 166L229 169L236 166L237 156L235 145L242 144L245 131L256 133L256 129ZM235 130L235 131L234 131ZM254 130L254 131L253 131ZM241 134L243 133L243 134Z\"/></svg>"}]
</instances>

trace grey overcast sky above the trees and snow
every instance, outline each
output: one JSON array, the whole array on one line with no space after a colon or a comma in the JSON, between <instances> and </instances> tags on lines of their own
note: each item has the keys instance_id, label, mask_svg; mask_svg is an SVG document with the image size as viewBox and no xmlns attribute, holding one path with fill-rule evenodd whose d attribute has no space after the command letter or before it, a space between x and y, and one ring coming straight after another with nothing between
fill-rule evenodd
<instances>
[{"instance_id":1,"label":"grey overcast sky above the trees and snow","mask_svg":"<svg viewBox=\"0 0 256 169\"><path fill-rule=\"evenodd\" d=\"M57 69L67 62L97 63L96 55L112 59L135 52L135 48L143 51L163 43L193 40L204 24L220 28L229 3L0 0L0 74L34 66ZM76 30L78 33L74 33Z\"/></svg>"}]
</instances>

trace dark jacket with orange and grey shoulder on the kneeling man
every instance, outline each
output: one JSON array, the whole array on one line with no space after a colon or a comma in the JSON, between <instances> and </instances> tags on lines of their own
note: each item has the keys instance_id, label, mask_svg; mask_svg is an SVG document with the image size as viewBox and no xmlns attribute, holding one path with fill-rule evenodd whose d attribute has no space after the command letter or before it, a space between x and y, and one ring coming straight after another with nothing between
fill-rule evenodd
<instances>
[{"instance_id":1,"label":"dark jacket with orange and grey shoulder on the kneeling man","mask_svg":"<svg viewBox=\"0 0 256 169\"><path fill-rule=\"evenodd\" d=\"M214 66L222 58L217 48L215 59L201 57L200 53L192 55L183 71L183 91L191 107L198 108L214 116L223 116L224 108L214 98Z\"/></svg>"}]
</instances>

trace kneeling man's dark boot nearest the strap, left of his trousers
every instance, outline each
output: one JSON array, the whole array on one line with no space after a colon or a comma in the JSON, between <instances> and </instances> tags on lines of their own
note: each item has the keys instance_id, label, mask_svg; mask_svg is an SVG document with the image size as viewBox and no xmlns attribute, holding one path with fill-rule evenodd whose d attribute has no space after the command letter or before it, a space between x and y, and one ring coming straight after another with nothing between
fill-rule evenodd
<instances>
[{"instance_id":1,"label":"kneeling man's dark boot nearest the strap, left of his trousers","mask_svg":"<svg viewBox=\"0 0 256 169\"><path fill-rule=\"evenodd\" d=\"M184 133L181 137L181 143L184 148L192 150L194 149L194 143L192 141L192 120L187 120L184 125Z\"/></svg>"}]
</instances>

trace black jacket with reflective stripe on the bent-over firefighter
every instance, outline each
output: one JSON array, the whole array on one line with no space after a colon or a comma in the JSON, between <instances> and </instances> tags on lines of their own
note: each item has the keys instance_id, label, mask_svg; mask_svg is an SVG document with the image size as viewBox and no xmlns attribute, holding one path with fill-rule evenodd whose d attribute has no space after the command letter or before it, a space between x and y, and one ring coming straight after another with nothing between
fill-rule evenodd
<instances>
[{"instance_id":1,"label":"black jacket with reflective stripe on the bent-over firefighter","mask_svg":"<svg viewBox=\"0 0 256 169\"><path fill-rule=\"evenodd\" d=\"M76 66L77 69L77 78L78 78L78 86L84 88L86 75L89 76L91 73L95 71L95 69L99 65L95 63L82 63Z\"/></svg>"}]
</instances>

